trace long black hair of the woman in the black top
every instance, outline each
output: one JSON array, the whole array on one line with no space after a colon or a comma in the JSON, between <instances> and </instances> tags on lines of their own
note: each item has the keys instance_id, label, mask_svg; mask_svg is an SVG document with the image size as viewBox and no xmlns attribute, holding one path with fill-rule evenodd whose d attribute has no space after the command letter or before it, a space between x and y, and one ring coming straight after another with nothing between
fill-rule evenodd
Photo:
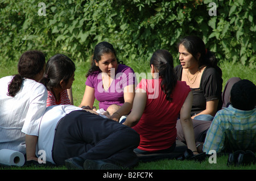
<instances>
[{"instance_id":1,"label":"long black hair of the woman in the black top","mask_svg":"<svg viewBox=\"0 0 256 181\"><path fill-rule=\"evenodd\" d=\"M186 36L180 40L177 44L179 46L183 45L189 53L192 54L193 57L197 57L197 54L200 53L201 56L198 60L199 62L199 70L202 69L204 66L209 66L215 68L217 72L222 76L222 71L218 67L218 59L214 55L213 52L210 52L207 48L205 48L204 41L200 39L198 36ZM196 58L197 60L197 58Z\"/></svg>"}]
</instances>

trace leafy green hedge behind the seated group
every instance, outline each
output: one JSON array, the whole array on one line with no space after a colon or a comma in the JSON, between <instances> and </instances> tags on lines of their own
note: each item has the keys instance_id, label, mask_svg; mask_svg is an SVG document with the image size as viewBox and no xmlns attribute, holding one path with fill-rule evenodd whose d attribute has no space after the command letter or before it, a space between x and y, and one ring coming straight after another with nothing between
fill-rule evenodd
<instances>
[{"instance_id":1,"label":"leafy green hedge behind the seated group","mask_svg":"<svg viewBox=\"0 0 256 181\"><path fill-rule=\"evenodd\" d=\"M210 2L216 16L209 15ZM0 0L0 9L0 61L17 60L28 49L88 61L100 41L112 43L124 62L147 60L156 49L176 58L179 39L197 35L221 61L256 67L254 1Z\"/></svg>"}]
</instances>

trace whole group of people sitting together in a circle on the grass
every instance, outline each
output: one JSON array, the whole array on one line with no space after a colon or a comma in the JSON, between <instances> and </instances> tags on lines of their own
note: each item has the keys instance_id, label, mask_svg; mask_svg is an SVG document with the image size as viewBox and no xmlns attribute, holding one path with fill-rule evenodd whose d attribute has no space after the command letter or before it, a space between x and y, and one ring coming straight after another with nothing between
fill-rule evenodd
<instances>
[{"instance_id":1,"label":"whole group of people sitting together in a circle on the grass","mask_svg":"<svg viewBox=\"0 0 256 181\"><path fill-rule=\"evenodd\" d=\"M180 39L177 52L155 50L145 66L151 77L137 81L111 43L98 43L74 106L71 58L23 52L18 73L0 79L0 150L22 153L24 167L133 169L143 160L196 160L210 150L228 154L228 165L255 163L253 82L223 82L218 59L192 35Z\"/></svg>"}]
</instances>

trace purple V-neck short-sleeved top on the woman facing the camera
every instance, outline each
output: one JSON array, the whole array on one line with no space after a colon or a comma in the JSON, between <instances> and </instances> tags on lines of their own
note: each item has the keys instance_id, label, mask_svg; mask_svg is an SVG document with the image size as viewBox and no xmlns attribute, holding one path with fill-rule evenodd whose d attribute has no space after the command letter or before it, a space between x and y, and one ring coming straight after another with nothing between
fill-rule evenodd
<instances>
[{"instance_id":1,"label":"purple V-neck short-sleeved top on the woman facing the camera","mask_svg":"<svg viewBox=\"0 0 256 181\"><path fill-rule=\"evenodd\" d=\"M123 88L129 85L136 86L137 79L133 69L119 64L108 90L103 88L101 71L95 71L93 74L90 74L86 79L85 85L94 88L94 96L100 102L99 108L103 108L106 111L112 104L123 105L125 102Z\"/></svg>"}]
</instances>

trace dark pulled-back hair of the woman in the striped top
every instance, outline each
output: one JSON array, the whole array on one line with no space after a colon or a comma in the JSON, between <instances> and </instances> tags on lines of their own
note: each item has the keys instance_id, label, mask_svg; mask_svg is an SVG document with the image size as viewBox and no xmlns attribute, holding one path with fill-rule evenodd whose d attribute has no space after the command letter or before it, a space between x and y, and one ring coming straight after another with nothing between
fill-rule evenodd
<instances>
[{"instance_id":1,"label":"dark pulled-back hair of the woman in the striped top","mask_svg":"<svg viewBox=\"0 0 256 181\"><path fill-rule=\"evenodd\" d=\"M75 64L69 57L64 54L55 54L47 61L44 77L40 82L48 91L52 91L53 87L60 86L60 81L67 83L75 70Z\"/></svg>"}]
</instances>

